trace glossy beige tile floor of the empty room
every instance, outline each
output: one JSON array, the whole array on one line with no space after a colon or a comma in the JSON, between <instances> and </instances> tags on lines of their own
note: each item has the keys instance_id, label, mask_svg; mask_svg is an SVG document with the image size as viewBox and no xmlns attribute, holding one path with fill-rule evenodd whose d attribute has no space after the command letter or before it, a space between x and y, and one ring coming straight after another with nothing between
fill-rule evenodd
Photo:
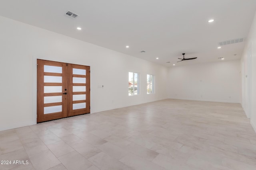
<instances>
[{"instance_id":1,"label":"glossy beige tile floor of the empty room","mask_svg":"<svg viewBox=\"0 0 256 170\"><path fill-rule=\"evenodd\" d=\"M0 131L1 170L256 170L240 104L161 100Z\"/></svg>"}]
</instances>

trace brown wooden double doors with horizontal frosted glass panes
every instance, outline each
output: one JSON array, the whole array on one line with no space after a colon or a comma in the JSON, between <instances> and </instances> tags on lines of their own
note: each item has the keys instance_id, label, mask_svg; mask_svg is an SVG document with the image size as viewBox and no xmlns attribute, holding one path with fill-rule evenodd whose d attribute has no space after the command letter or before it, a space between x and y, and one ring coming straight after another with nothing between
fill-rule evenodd
<instances>
[{"instance_id":1,"label":"brown wooden double doors with horizontal frosted glass panes","mask_svg":"<svg viewBox=\"0 0 256 170\"><path fill-rule=\"evenodd\" d=\"M90 66L37 60L37 123L90 113Z\"/></svg>"}]
</instances>

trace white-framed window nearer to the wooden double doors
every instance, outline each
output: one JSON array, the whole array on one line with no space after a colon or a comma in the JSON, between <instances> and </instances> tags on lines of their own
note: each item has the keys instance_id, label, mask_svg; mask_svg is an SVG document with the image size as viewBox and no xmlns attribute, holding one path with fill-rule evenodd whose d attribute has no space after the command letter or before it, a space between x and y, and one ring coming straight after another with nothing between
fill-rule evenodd
<instances>
[{"instance_id":1,"label":"white-framed window nearer to the wooden double doors","mask_svg":"<svg viewBox=\"0 0 256 170\"><path fill-rule=\"evenodd\" d=\"M129 72L129 96L138 95L139 94L139 77L140 74L137 72Z\"/></svg>"}]
</instances>

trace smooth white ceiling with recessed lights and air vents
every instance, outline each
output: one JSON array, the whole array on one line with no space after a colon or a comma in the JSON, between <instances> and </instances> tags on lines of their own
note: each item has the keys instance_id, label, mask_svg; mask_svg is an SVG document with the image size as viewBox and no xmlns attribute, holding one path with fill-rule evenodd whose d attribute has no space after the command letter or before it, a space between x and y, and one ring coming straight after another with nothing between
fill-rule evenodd
<instances>
[{"instance_id":1,"label":"smooth white ceiling with recessed lights and air vents","mask_svg":"<svg viewBox=\"0 0 256 170\"><path fill-rule=\"evenodd\" d=\"M239 59L244 43L217 49L218 42L246 38L256 11L256 0L1 0L0 4L1 16L165 66ZM66 16L68 10L79 16ZM208 23L210 19L214 22ZM198 59L176 63L182 53Z\"/></svg>"}]
</instances>

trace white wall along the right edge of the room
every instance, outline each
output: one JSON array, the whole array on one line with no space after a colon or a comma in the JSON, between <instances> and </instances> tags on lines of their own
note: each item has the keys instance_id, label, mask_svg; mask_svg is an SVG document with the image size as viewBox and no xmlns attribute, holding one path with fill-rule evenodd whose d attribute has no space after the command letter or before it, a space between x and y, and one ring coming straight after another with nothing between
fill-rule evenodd
<instances>
[{"instance_id":1,"label":"white wall along the right edge of the room","mask_svg":"<svg viewBox=\"0 0 256 170\"><path fill-rule=\"evenodd\" d=\"M248 63L248 52L251 52L251 63ZM246 38L246 45L241 59L242 67L244 68L244 75L242 75L243 88L243 107L244 111L248 113L251 110L251 124L256 132L256 14L250 28L250 32ZM251 64L251 72L248 72L248 65ZM251 82L245 76L251 74ZM251 105L248 100L248 87L251 86ZM250 108L248 108L250 107Z\"/></svg>"}]
</instances>

